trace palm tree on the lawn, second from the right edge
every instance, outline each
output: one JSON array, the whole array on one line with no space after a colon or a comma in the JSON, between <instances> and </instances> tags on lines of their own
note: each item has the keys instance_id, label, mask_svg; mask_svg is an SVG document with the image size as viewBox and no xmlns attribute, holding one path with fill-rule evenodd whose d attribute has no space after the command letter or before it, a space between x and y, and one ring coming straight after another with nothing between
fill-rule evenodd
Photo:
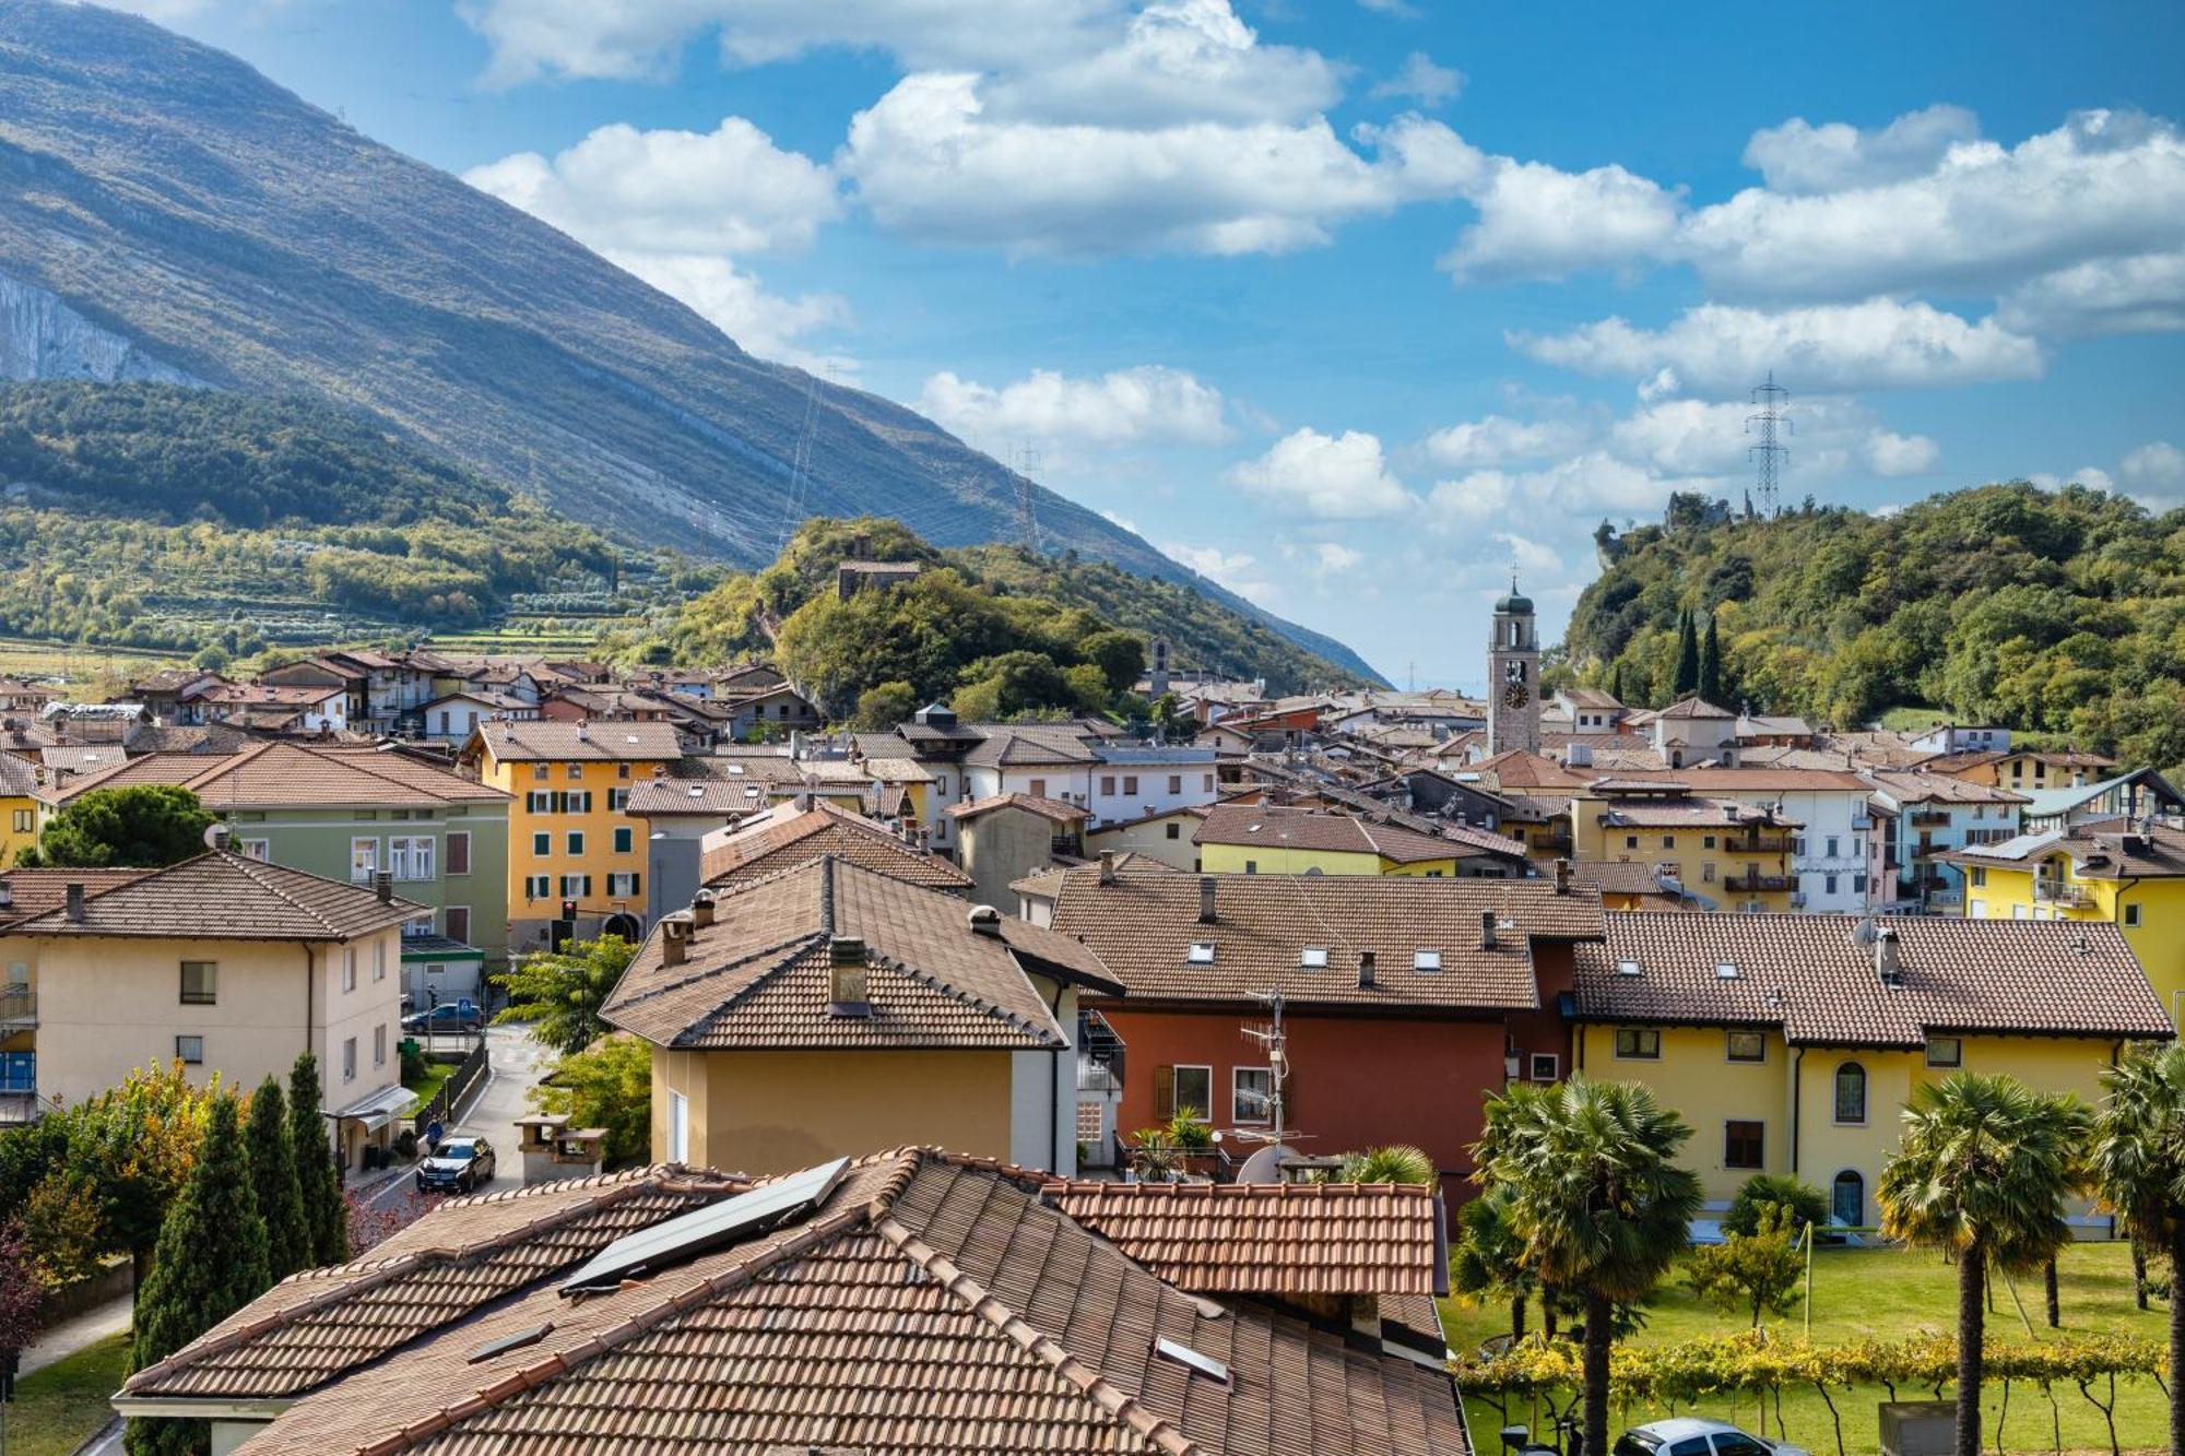
<instances>
[{"instance_id":1,"label":"palm tree on the lawn, second from the right edge","mask_svg":"<svg viewBox=\"0 0 2185 1456\"><path fill-rule=\"evenodd\" d=\"M2071 1242L2063 1200L2087 1126L2076 1097L1960 1071L1912 1093L1881 1167L1881 1231L1958 1261L1958 1456L1980 1456L1988 1272L2032 1272Z\"/></svg>"}]
</instances>

